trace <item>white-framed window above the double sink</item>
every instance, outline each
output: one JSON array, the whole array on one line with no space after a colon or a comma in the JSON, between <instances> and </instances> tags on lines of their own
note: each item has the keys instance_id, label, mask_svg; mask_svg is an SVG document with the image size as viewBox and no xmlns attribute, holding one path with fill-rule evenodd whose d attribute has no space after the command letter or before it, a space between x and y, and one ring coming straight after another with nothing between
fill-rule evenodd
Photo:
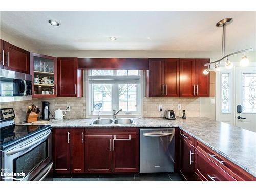
<instances>
[{"instance_id":1,"label":"white-framed window above the double sink","mask_svg":"<svg viewBox=\"0 0 256 192\"><path fill-rule=\"evenodd\" d=\"M143 104L143 71L86 70L87 117L140 117Z\"/></svg>"}]
</instances>

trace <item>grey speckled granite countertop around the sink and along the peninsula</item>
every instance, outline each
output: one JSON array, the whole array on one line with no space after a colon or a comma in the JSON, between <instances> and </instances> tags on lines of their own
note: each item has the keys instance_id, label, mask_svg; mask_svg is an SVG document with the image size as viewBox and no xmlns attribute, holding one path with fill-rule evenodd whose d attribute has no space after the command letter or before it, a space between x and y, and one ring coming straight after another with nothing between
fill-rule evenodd
<instances>
[{"instance_id":1,"label":"grey speckled granite countertop around the sink and along the peninsula","mask_svg":"<svg viewBox=\"0 0 256 192\"><path fill-rule=\"evenodd\" d=\"M135 125L91 125L95 119L50 120L57 127L179 127L197 140L256 177L256 133L206 117L135 118Z\"/></svg>"}]
</instances>

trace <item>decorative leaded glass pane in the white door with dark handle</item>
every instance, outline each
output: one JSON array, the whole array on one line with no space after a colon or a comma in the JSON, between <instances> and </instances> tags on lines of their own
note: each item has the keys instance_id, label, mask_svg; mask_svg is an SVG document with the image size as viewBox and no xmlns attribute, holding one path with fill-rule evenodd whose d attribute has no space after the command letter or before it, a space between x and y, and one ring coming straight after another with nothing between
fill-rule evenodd
<instances>
[{"instance_id":1,"label":"decorative leaded glass pane in the white door with dark handle","mask_svg":"<svg viewBox=\"0 0 256 192\"><path fill-rule=\"evenodd\" d=\"M256 73L242 75L242 110L256 113Z\"/></svg>"}]
</instances>

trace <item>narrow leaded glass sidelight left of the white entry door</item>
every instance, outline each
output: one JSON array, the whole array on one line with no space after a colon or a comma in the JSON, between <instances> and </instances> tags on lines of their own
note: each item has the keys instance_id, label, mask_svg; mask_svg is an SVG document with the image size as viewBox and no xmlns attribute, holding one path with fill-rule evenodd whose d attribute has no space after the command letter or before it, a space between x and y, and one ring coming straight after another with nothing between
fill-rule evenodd
<instances>
[{"instance_id":1,"label":"narrow leaded glass sidelight left of the white entry door","mask_svg":"<svg viewBox=\"0 0 256 192\"><path fill-rule=\"evenodd\" d=\"M221 112L230 113L229 73L221 74Z\"/></svg>"}]
</instances>

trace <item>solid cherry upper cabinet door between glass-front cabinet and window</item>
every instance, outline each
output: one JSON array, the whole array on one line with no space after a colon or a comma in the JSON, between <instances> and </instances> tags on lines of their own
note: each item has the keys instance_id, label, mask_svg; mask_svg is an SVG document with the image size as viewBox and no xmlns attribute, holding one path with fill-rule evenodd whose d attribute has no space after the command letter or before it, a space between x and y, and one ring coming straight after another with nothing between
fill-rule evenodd
<instances>
[{"instance_id":1,"label":"solid cherry upper cabinet door between glass-front cabinet and window","mask_svg":"<svg viewBox=\"0 0 256 192\"><path fill-rule=\"evenodd\" d=\"M58 97L77 96L77 58L58 58Z\"/></svg>"}]
</instances>

